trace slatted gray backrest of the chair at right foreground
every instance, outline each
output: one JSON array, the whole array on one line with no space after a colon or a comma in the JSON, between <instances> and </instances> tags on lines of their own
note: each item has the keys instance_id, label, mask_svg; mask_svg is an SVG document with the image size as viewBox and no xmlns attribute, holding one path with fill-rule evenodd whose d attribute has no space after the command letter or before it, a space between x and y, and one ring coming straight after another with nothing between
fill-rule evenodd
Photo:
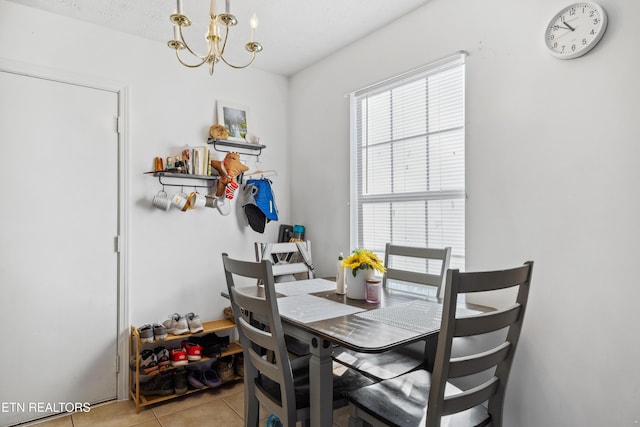
<instances>
[{"instance_id":1,"label":"slatted gray backrest of the chair at right foreground","mask_svg":"<svg viewBox=\"0 0 640 427\"><path fill-rule=\"evenodd\" d=\"M502 407L513 355L520 338L533 262L500 271L461 273L447 271L442 326L433 368L427 427L439 427L440 418L489 402L488 412L494 426L502 425ZM472 292L518 287L515 303L510 307L471 316L456 317L458 295ZM506 337L492 349L464 357L452 358L455 337L472 337L507 328ZM459 378L495 368L493 376L463 393L445 396L450 378Z\"/></svg>"}]
</instances>

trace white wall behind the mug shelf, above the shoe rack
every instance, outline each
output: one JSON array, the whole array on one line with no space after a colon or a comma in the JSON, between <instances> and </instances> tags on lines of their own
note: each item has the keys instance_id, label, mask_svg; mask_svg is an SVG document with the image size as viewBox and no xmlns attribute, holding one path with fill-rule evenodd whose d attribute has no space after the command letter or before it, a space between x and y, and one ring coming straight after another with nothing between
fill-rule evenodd
<instances>
[{"instance_id":1,"label":"white wall behind the mug shelf, above the shoe rack","mask_svg":"<svg viewBox=\"0 0 640 427\"><path fill-rule=\"evenodd\" d=\"M6 1L0 1L0 16L1 58L115 80L128 87L131 323L162 321L173 312L193 311L203 320L222 317L228 301L220 296L226 289L221 252L253 259L253 242L276 239L279 223L288 223L286 79L255 67L231 71L224 64L211 77L204 68L179 65L164 43ZM143 172L152 169L156 156L178 154L184 144L204 145L216 117L216 100L250 108L249 126L267 145L259 167L278 171L272 179L281 221L269 224L264 235L246 225L241 210L223 217L215 209L183 213L172 208L165 213L151 206L161 186ZM73 100L61 100L61 108L65 102ZM34 124L37 127L37 117ZM34 139L57 143L47 141L46 135L46 129L34 129ZM255 170L255 158L242 158ZM101 179L100 171L78 179ZM66 187L73 191L73 183ZM167 188L170 195L178 190ZM237 208L237 199L232 203Z\"/></svg>"}]
</instances>

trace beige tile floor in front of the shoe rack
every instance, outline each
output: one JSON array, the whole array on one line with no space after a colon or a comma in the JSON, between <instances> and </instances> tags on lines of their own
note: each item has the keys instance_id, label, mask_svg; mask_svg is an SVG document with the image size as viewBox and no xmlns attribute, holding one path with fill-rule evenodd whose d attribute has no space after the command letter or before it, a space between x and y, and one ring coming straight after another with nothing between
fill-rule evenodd
<instances>
[{"instance_id":1,"label":"beige tile floor in front of the shoe rack","mask_svg":"<svg viewBox=\"0 0 640 427\"><path fill-rule=\"evenodd\" d=\"M244 391L242 383L224 385L140 409L132 400L96 405L90 412L61 415L37 421L37 427L242 427ZM266 424L267 414L261 409ZM334 427L349 425L348 408L333 414ZM298 423L299 424L299 423Z\"/></svg>"}]
</instances>

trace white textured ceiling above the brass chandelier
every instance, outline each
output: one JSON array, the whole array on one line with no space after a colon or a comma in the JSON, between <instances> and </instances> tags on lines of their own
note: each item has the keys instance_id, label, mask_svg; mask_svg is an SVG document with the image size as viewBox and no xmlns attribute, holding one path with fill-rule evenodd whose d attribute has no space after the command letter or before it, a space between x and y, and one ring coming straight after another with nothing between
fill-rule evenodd
<instances>
[{"instance_id":1,"label":"white textured ceiling above the brass chandelier","mask_svg":"<svg viewBox=\"0 0 640 427\"><path fill-rule=\"evenodd\" d=\"M166 42L173 38L169 15L176 0L9 0L118 31ZM231 0L239 21L229 37L228 51L246 61L249 17L259 19L256 41L264 50L253 67L292 75L377 28L428 3L429 0ZM220 11L224 0L217 0ZM183 12L193 21L185 30L194 50L204 50L209 0L183 0ZM199 47L202 48L199 49ZM170 51L167 48L167 54Z\"/></svg>"}]
</instances>

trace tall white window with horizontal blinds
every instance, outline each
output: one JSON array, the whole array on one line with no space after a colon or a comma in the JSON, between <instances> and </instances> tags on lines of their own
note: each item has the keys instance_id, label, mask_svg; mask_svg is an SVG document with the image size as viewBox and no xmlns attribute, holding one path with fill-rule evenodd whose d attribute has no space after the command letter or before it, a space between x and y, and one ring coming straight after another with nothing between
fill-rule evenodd
<instances>
[{"instance_id":1,"label":"tall white window with horizontal blinds","mask_svg":"<svg viewBox=\"0 0 640 427\"><path fill-rule=\"evenodd\" d=\"M355 247L451 246L464 268L464 72L457 54L351 94Z\"/></svg>"}]
</instances>

